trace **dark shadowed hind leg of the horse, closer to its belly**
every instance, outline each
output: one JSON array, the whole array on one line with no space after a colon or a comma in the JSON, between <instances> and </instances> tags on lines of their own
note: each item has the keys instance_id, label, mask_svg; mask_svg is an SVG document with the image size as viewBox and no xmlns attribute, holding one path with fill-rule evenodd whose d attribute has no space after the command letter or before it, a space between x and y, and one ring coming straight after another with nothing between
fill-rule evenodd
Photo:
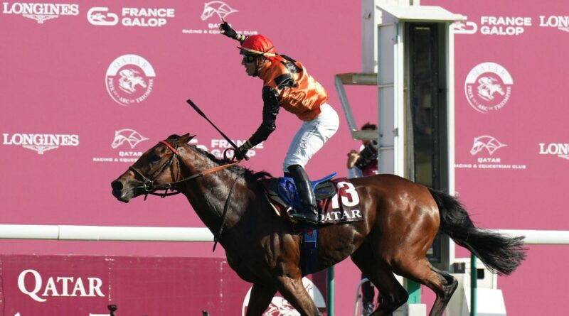
<instances>
[{"instance_id":1,"label":"dark shadowed hind leg of the horse, closer to its belly","mask_svg":"<svg viewBox=\"0 0 569 316\"><path fill-rule=\"evenodd\" d=\"M407 302L409 295L403 285L393 275L385 261L373 258L371 247L364 244L351 256L360 270L379 290L379 307L372 316L393 315L393 311Z\"/></svg>"}]
</instances>

